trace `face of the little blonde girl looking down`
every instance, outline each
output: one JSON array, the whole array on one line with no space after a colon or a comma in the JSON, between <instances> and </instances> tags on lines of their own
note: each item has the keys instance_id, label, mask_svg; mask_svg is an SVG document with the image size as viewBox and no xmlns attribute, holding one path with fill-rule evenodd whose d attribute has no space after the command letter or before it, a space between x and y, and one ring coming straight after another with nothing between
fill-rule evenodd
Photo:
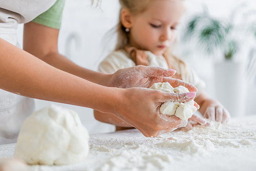
<instances>
[{"instance_id":1,"label":"face of the little blonde girl looking down","mask_svg":"<svg viewBox=\"0 0 256 171\"><path fill-rule=\"evenodd\" d=\"M146 11L132 17L131 46L162 55L175 40L184 11L182 1L153 1Z\"/></svg>"}]
</instances>

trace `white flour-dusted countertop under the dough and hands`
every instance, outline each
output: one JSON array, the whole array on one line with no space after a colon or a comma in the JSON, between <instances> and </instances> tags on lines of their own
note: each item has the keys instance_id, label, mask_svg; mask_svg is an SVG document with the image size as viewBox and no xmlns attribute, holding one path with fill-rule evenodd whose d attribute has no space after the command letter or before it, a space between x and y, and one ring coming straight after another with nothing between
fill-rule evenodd
<instances>
[{"instance_id":1,"label":"white flour-dusted countertop under the dough and hands","mask_svg":"<svg viewBox=\"0 0 256 171\"><path fill-rule=\"evenodd\" d=\"M195 126L146 138L138 130L90 135L89 156L65 166L30 166L31 170L256 170L256 115L227 125ZM0 145L12 157L15 144Z\"/></svg>"}]
</instances>

